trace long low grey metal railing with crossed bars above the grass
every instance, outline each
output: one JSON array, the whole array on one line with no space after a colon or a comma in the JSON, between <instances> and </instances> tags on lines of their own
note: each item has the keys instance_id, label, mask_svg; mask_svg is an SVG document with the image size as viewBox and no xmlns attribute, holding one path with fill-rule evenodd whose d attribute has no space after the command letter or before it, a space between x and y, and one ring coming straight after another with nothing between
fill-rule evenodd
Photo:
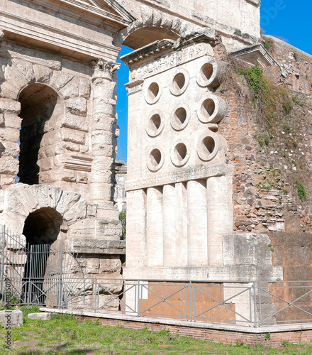
<instances>
[{"instance_id":1,"label":"long low grey metal railing with crossed bars above the grass","mask_svg":"<svg viewBox=\"0 0 312 355\"><path fill-rule=\"evenodd\" d=\"M260 327L312 322L312 282L12 279L11 304ZM16 287L18 285L18 287ZM40 285L40 286L38 286ZM31 290L25 297L18 290Z\"/></svg>"}]
</instances>

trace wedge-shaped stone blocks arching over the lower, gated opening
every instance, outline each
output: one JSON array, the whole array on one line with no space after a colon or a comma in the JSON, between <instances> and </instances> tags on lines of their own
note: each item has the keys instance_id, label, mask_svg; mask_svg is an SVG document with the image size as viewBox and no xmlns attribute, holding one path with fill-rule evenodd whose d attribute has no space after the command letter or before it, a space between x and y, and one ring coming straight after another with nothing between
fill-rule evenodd
<instances>
[{"instance_id":1,"label":"wedge-shaped stone blocks arching over the lower, gated opening","mask_svg":"<svg viewBox=\"0 0 312 355\"><path fill-rule=\"evenodd\" d=\"M34 221L36 217L46 220L46 226L52 226L50 218L57 218L60 224L59 234L53 240L67 238L67 230L87 216L87 202L76 192L62 190L50 185L26 185L18 183L6 190L4 211L0 224L6 225L16 234L23 234L26 219ZM61 221L62 219L62 221Z\"/></svg>"}]
</instances>

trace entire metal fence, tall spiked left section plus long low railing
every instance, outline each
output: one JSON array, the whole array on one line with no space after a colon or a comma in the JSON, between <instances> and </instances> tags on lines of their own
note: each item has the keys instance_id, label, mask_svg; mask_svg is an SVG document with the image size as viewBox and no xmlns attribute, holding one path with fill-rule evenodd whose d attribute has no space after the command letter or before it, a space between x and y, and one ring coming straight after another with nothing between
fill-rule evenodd
<instances>
[{"instance_id":1,"label":"entire metal fence, tall spiked left section plus long low railing","mask_svg":"<svg viewBox=\"0 0 312 355\"><path fill-rule=\"evenodd\" d=\"M190 322L273 324L312 322L312 281L214 282L87 278L62 244L28 246L0 229L1 300L162 317Z\"/></svg>"}]
</instances>

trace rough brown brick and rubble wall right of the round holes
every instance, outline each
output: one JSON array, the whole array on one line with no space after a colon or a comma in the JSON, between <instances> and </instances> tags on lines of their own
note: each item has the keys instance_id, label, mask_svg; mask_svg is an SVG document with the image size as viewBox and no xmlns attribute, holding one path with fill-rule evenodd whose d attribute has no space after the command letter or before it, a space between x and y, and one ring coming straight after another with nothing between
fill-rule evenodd
<instances>
[{"instance_id":1,"label":"rough brown brick and rubble wall right of the round holes","mask_svg":"<svg viewBox=\"0 0 312 355\"><path fill-rule=\"evenodd\" d=\"M288 58L289 44L280 40L277 44L280 53ZM226 60L218 47L214 48L217 58ZM282 58L280 54L277 61L282 62ZM297 60L292 60L293 65L301 67L302 71L308 60L311 62L311 56L301 54ZM227 158L234 166L235 233L311 229L312 102L305 89L311 88L311 79L301 74L305 86L298 86L295 75L287 73L285 78L279 68L274 70L275 77L269 75L274 68L277 67L264 68L264 77L286 89L298 87L301 91L289 91L292 108L276 122L272 129L274 133L264 131L257 123L257 113L242 76L235 75L235 87L223 82L217 89L218 95L228 102L228 113L221 121L218 133L228 142ZM308 197L304 200L299 199L297 182L306 187Z\"/></svg>"}]
</instances>

